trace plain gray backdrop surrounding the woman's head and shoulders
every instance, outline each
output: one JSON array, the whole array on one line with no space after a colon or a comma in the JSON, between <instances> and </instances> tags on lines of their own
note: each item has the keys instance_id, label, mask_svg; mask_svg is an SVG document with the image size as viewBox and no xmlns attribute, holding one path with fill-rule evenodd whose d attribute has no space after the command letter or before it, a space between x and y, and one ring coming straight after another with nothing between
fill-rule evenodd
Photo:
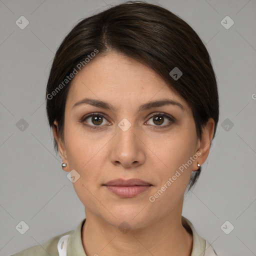
<instances>
[{"instance_id":1,"label":"plain gray backdrop surrounding the woman's head and shoulders","mask_svg":"<svg viewBox=\"0 0 256 256\"><path fill-rule=\"evenodd\" d=\"M120 2L0 0L0 255L72 230L84 218L53 151L45 86L54 52L71 27ZM179 15L198 33L219 86L217 135L182 214L220 256L256 255L256 2L150 2ZM24 29L15 24L21 15L29 21ZM234 21L229 29L220 23L226 15ZM29 226L23 235L15 229L21 220ZM229 234L220 228L226 220L234 226Z\"/></svg>"}]
</instances>

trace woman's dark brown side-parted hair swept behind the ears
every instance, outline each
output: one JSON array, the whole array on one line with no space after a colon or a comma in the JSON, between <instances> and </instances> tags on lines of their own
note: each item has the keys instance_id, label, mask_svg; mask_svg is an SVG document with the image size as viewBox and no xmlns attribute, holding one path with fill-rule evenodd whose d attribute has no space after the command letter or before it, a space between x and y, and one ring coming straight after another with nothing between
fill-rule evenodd
<instances>
[{"instance_id":1,"label":"woman's dark brown side-parted hair swept behind the ears","mask_svg":"<svg viewBox=\"0 0 256 256\"><path fill-rule=\"evenodd\" d=\"M208 118L219 116L218 90L211 59L197 33L171 11L143 1L127 1L79 21L65 36L54 56L46 87L46 111L51 128L64 139L64 111L74 68L85 66L86 57L115 51L153 69L192 110L197 137ZM95 54L94 54L95 55ZM169 73L177 67L182 75ZM63 84L65 81L66 84ZM61 86L62 84L62 86ZM61 90L60 90L61 89ZM55 127L56 128L56 127ZM57 143L54 138L54 149ZM199 174L192 171L189 188Z\"/></svg>"}]
</instances>

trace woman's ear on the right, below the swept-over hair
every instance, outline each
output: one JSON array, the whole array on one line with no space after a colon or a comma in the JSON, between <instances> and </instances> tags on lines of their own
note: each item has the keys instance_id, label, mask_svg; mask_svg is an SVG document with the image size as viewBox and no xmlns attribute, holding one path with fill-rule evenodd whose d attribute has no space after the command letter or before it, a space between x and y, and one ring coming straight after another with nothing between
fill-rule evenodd
<instances>
[{"instance_id":1,"label":"woman's ear on the right, below the swept-over hair","mask_svg":"<svg viewBox=\"0 0 256 256\"><path fill-rule=\"evenodd\" d=\"M209 154L210 143L214 133L214 126L215 126L214 120L212 118L209 118L207 123L202 128L201 139L198 141L198 146L196 150L197 153L198 151L200 152L200 155L197 158L197 161L195 162L195 166L193 166L194 167L193 170L197 170L198 169L197 163L202 165Z\"/></svg>"}]
</instances>

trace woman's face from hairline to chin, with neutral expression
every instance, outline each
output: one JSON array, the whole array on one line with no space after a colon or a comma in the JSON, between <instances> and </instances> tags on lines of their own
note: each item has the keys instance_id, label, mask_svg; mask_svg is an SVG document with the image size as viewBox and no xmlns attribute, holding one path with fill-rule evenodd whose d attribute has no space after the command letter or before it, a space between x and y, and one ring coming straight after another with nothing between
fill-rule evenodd
<instances>
[{"instance_id":1,"label":"woman's face from hairline to chin, with neutral expression","mask_svg":"<svg viewBox=\"0 0 256 256\"><path fill-rule=\"evenodd\" d=\"M152 103L163 100L169 103ZM117 53L95 57L73 78L58 148L65 169L79 176L73 186L86 216L116 226L181 214L191 172L202 163L187 102L152 69ZM106 185L119 178L147 185Z\"/></svg>"}]
</instances>

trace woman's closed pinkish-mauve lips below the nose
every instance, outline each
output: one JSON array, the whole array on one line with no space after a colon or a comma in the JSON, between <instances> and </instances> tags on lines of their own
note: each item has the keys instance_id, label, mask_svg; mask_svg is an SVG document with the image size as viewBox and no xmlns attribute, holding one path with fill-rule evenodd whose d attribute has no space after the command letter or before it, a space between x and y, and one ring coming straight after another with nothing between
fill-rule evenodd
<instances>
[{"instance_id":1,"label":"woman's closed pinkish-mauve lips below the nose","mask_svg":"<svg viewBox=\"0 0 256 256\"><path fill-rule=\"evenodd\" d=\"M137 178L128 180L119 178L105 183L104 186L120 197L133 197L147 190L151 184Z\"/></svg>"}]
</instances>

